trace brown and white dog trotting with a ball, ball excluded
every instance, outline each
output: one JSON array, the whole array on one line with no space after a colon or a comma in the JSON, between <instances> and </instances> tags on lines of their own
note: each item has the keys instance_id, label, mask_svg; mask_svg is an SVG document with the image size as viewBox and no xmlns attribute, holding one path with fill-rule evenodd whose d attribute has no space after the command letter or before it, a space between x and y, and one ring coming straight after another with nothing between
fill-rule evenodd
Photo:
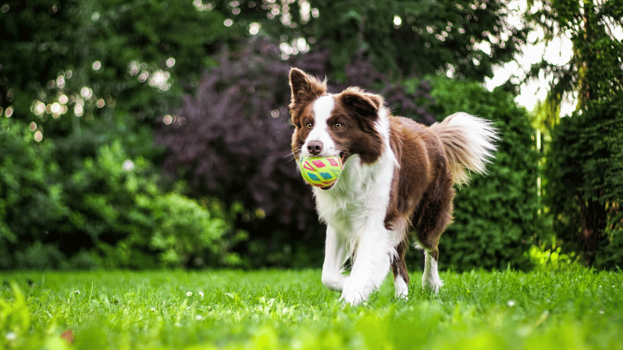
<instances>
[{"instance_id":1,"label":"brown and white dog trotting with a ball, ball excluded","mask_svg":"<svg viewBox=\"0 0 623 350\"><path fill-rule=\"evenodd\" d=\"M497 132L489 121L455 113L427 127L392 116L383 98L351 87L327 92L305 72L290 70L290 114L297 160L337 156L344 168L331 187L313 187L326 222L322 283L352 305L368 300L389 272L397 297L407 296L404 262L407 232L425 252L422 286L435 293L437 244L452 220L453 184L468 182L468 170L485 172ZM297 162L298 163L298 162ZM342 274L352 257L349 276Z\"/></svg>"}]
</instances>

